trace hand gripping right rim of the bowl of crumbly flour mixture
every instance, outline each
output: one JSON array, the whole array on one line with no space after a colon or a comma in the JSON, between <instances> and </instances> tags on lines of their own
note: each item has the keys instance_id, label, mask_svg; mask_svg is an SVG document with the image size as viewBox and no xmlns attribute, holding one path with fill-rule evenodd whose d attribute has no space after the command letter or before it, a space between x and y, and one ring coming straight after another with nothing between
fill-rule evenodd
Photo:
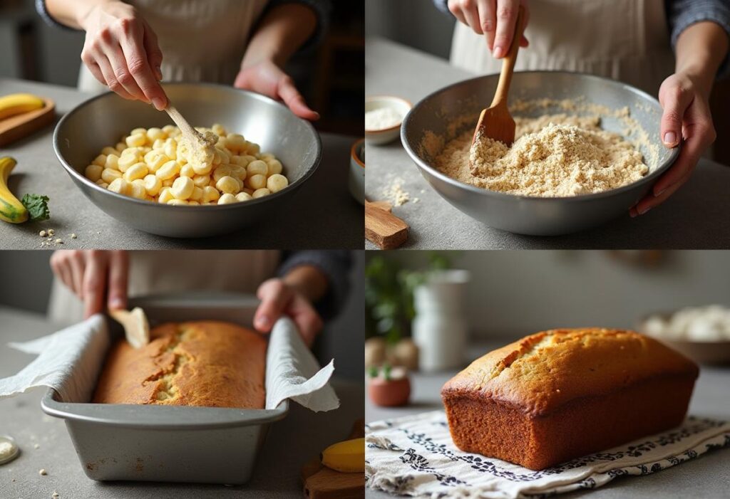
<instances>
[{"instance_id":1,"label":"hand gripping right rim of the bowl of crumbly flour mixture","mask_svg":"<svg viewBox=\"0 0 730 499\"><path fill-rule=\"evenodd\" d=\"M670 149L677 147L680 138L684 144L672 168L666 171L629 214L643 215L651 208L664 203L690 178L705 149L715 141L712 126L709 90L702 90L694 77L688 74L672 74L659 88L659 102L664 109L661 117L661 140Z\"/></svg>"}]
</instances>

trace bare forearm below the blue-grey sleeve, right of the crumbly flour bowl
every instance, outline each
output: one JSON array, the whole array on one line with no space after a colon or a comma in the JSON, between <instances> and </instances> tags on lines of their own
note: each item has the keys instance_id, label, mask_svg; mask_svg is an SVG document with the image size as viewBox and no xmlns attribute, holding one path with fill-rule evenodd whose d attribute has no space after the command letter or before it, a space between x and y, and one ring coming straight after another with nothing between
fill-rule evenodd
<instances>
[{"instance_id":1,"label":"bare forearm below the blue-grey sleeve, right of the crumbly flour bowl","mask_svg":"<svg viewBox=\"0 0 730 499\"><path fill-rule=\"evenodd\" d=\"M677 38L675 72L691 76L709 96L728 47L728 35L721 26L709 21L693 24Z\"/></svg>"}]
</instances>

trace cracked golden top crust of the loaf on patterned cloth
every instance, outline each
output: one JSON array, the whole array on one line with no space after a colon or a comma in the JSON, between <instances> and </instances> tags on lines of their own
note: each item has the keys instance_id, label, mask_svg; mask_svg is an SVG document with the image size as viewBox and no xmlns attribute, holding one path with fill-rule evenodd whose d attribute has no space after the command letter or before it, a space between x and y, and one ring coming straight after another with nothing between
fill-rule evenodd
<instances>
[{"instance_id":1,"label":"cracked golden top crust of the loaf on patterned cloth","mask_svg":"<svg viewBox=\"0 0 730 499\"><path fill-rule=\"evenodd\" d=\"M652 377L694 379L698 373L688 358L634 331L555 329L478 358L444 385L442 395L500 400L545 415L576 398Z\"/></svg>"}]
</instances>

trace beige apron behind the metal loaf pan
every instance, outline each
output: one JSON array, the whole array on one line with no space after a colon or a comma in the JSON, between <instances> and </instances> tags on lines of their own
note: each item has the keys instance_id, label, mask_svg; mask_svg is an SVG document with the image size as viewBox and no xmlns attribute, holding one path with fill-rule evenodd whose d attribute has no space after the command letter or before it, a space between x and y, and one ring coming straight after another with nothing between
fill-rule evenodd
<instances>
[{"instance_id":1,"label":"beige apron behind the metal loaf pan","mask_svg":"<svg viewBox=\"0 0 730 499\"><path fill-rule=\"evenodd\" d=\"M255 294L279 266L279 251L130 251L129 296L191 290ZM60 280L53 281L48 317L58 324L83 318L83 304Z\"/></svg>"}]
</instances>

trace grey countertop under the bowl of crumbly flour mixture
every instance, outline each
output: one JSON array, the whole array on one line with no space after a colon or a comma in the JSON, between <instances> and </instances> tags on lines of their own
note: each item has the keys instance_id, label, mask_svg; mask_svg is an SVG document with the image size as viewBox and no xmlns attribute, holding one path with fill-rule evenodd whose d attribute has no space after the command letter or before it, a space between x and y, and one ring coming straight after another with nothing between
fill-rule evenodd
<instances>
[{"instance_id":1,"label":"grey countertop under the bowl of crumbly flour mixture","mask_svg":"<svg viewBox=\"0 0 730 499\"><path fill-rule=\"evenodd\" d=\"M473 78L447 61L383 39L368 39L365 51L366 95L397 95L412 103L446 85ZM408 249L571 249L571 248L728 248L730 218L727 191L730 168L701 160L690 181L664 205L637 219L625 216L602 227L560 237L535 237L492 229L443 200L420 176L400 141L366 146L365 194L384 198L383 189L402 178L404 191L418 197L393 208L410 224ZM366 242L366 249L377 249Z\"/></svg>"}]
</instances>

